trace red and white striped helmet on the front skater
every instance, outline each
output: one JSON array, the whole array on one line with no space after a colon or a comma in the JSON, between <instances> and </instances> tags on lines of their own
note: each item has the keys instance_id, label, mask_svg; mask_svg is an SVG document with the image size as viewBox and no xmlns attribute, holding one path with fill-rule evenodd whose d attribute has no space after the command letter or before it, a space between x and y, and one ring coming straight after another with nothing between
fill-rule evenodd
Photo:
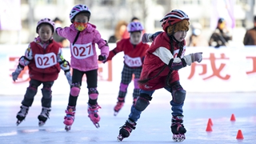
<instances>
[{"instance_id":1,"label":"red and white striped helmet on the front skater","mask_svg":"<svg viewBox=\"0 0 256 144\"><path fill-rule=\"evenodd\" d=\"M170 13L166 14L164 18L161 19L162 30L167 29L168 26L172 26L177 22L181 22L183 19L189 20L189 16L182 10L171 10Z\"/></svg>"}]
</instances>

